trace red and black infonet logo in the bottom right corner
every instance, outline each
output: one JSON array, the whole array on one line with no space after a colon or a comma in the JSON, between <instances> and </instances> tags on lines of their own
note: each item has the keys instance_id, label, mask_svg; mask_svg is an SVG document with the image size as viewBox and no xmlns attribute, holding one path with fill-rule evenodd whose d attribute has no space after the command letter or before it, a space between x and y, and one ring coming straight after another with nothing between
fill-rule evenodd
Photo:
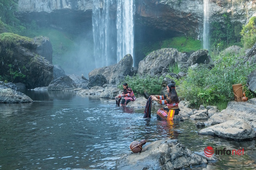
<instances>
[{"instance_id":1,"label":"red and black infonet logo in the bottom right corner","mask_svg":"<svg viewBox=\"0 0 256 170\"><path fill-rule=\"evenodd\" d=\"M206 147L204 149L204 155L207 157L211 157L214 154L214 149L210 146ZM216 155L244 155L244 148L243 149L233 149L233 150L229 150L226 148L223 149L215 149L215 154Z\"/></svg>"}]
</instances>

